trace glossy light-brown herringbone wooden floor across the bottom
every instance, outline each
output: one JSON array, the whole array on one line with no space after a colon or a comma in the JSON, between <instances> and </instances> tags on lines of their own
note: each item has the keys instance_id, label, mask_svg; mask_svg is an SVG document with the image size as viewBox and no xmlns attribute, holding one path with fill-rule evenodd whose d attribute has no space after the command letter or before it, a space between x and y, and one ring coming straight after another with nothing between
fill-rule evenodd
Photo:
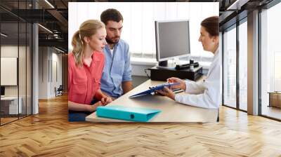
<instances>
[{"instance_id":1,"label":"glossy light-brown herringbone wooden floor across the bottom","mask_svg":"<svg viewBox=\"0 0 281 157\"><path fill-rule=\"evenodd\" d=\"M70 123L67 97L0 127L0 156L281 156L281 123L227 107L219 123Z\"/></svg>"}]
</instances>

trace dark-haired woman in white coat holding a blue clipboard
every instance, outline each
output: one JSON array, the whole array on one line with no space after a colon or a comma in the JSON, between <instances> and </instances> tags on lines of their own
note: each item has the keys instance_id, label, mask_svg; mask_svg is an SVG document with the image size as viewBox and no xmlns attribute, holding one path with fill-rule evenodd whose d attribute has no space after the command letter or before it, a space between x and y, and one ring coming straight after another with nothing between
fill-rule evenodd
<instances>
[{"instance_id":1,"label":"dark-haired woman in white coat holding a blue clipboard","mask_svg":"<svg viewBox=\"0 0 281 157\"><path fill-rule=\"evenodd\" d=\"M169 83L180 83L172 88L181 88L188 95L175 95L169 88L158 92L176 102L207 109L218 109L221 104L221 54L218 50L218 16L204 19L201 22L200 38L204 50L214 53L207 78L200 83L183 81L180 78L168 78Z\"/></svg>"}]
</instances>

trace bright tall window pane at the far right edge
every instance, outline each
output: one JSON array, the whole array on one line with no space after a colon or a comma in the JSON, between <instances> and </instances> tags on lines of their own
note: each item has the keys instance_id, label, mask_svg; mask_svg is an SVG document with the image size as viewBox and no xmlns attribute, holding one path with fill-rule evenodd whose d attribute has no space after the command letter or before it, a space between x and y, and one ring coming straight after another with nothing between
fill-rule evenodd
<instances>
[{"instance_id":1,"label":"bright tall window pane at the far right edge","mask_svg":"<svg viewBox=\"0 0 281 157\"><path fill-rule=\"evenodd\" d=\"M261 114L277 119L281 119L281 93L274 96L280 107L272 106L270 93L281 91L280 15L281 4L261 12Z\"/></svg>"}]
</instances>

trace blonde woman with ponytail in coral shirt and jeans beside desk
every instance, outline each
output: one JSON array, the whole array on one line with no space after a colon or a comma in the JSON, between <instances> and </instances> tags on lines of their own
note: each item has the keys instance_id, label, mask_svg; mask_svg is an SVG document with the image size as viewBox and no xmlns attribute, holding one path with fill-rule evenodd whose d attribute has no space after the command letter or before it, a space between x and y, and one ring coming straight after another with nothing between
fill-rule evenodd
<instances>
[{"instance_id":1,"label":"blonde woman with ponytail in coral shirt and jeans beside desk","mask_svg":"<svg viewBox=\"0 0 281 157\"><path fill-rule=\"evenodd\" d=\"M72 38L68 55L68 109L70 121L85 121L85 116L112 99L100 90L103 73L103 48L106 41L103 22L86 20Z\"/></svg>"}]
</instances>

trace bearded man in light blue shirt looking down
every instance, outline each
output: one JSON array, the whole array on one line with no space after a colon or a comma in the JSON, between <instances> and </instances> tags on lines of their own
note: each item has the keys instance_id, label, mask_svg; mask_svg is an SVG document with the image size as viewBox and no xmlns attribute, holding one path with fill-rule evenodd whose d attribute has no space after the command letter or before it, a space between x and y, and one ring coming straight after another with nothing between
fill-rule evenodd
<instances>
[{"instance_id":1,"label":"bearded man in light blue shirt looking down","mask_svg":"<svg viewBox=\"0 0 281 157\"><path fill-rule=\"evenodd\" d=\"M113 8L107 9L100 15L100 20L105 23L107 32L105 38L107 45L103 50L105 67L100 80L100 87L103 93L115 100L133 88L129 45L126 41L120 39L123 17L119 11Z\"/></svg>"}]
</instances>

